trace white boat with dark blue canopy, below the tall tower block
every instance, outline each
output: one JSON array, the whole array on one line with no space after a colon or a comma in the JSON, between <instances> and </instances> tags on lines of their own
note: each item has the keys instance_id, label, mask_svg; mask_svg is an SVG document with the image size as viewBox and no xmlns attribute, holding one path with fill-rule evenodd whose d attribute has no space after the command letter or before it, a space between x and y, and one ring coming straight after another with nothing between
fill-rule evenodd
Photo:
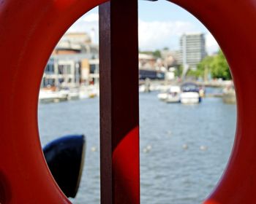
<instances>
[{"instance_id":1,"label":"white boat with dark blue canopy, below the tall tower block","mask_svg":"<svg viewBox=\"0 0 256 204\"><path fill-rule=\"evenodd\" d=\"M195 83L187 82L181 85L181 103L183 104L197 104L200 103L201 98L199 88Z\"/></svg>"}]
</instances>

